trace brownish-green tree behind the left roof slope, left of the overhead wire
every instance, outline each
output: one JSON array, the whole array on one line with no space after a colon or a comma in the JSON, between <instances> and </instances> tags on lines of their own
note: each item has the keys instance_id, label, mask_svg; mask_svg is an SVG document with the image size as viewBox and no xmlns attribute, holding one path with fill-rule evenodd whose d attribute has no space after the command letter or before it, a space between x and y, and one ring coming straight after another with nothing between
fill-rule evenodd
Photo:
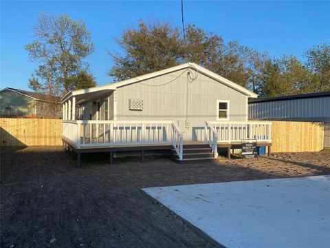
<instances>
[{"instance_id":1,"label":"brownish-green tree behind the left roof slope, left of the overhead wire","mask_svg":"<svg viewBox=\"0 0 330 248\"><path fill-rule=\"evenodd\" d=\"M115 65L108 74L115 81L178 65L184 52L179 28L170 23L140 21L137 28L124 30L115 41L124 52L109 52Z\"/></svg>"}]
</instances>

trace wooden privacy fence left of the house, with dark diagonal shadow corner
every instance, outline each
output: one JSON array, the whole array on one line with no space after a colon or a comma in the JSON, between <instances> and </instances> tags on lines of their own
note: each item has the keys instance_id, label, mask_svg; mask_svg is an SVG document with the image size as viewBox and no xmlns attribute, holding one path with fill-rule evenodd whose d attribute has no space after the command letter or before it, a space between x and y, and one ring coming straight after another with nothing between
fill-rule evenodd
<instances>
[{"instance_id":1,"label":"wooden privacy fence left of the house, with dark diagonal shadow corner","mask_svg":"<svg viewBox=\"0 0 330 248\"><path fill-rule=\"evenodd\" d=\"M58 119L0 118L1 146L62 145Z\"/></svg>"}]
</instances>

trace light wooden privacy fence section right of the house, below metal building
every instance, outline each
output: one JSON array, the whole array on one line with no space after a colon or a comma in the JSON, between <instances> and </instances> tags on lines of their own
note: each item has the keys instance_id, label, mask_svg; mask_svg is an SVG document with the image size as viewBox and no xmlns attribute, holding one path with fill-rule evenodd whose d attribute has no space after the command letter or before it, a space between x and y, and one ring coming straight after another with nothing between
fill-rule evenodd
<instances>
[{"instance_id":1,"label":"light wooden privacy fence section right of the house, below metal building","mask_svg":"<svg viewBox=\"0 0 330 248\"><path fill-rule=\"evenodd\" d=\"M272 121L272 152L319 152L323 141L323 123Z\"/></svg>"}]
</instances>

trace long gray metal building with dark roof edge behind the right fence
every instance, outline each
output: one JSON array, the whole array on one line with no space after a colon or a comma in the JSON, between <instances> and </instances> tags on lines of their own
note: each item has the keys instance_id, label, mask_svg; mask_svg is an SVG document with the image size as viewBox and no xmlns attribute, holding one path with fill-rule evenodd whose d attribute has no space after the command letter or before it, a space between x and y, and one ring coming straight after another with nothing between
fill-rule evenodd
<instances>
[{"instance_id":1,"label":"long gray metal building with dark roof edge behind the right fence","mask_svg":"<svg viewBox=\"0 0 330 248\"><path fill-rule=\"evenodd\" d=\"M325 123L325 147L330 147L330 92L249 100L249 118Z\"/></svg>"}]
</instances>

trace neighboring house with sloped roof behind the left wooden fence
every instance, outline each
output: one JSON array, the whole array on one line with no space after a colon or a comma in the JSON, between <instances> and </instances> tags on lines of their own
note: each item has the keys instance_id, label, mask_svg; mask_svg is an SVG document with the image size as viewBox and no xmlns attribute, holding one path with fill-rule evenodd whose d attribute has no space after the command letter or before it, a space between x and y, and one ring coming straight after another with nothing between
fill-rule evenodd
<instances>
[{"instance_id":1,"label":"neighboring house with sloped roof behind the left wooden fence","mask_svg":"<svg viewBox=\"0 0 330 248\"><path fill-rule=\"evenodd\" d=\"M3 117L61 118L61 104L54 96L6 87L0 90L0 115Z\"/></svg>"}]
</instances>

